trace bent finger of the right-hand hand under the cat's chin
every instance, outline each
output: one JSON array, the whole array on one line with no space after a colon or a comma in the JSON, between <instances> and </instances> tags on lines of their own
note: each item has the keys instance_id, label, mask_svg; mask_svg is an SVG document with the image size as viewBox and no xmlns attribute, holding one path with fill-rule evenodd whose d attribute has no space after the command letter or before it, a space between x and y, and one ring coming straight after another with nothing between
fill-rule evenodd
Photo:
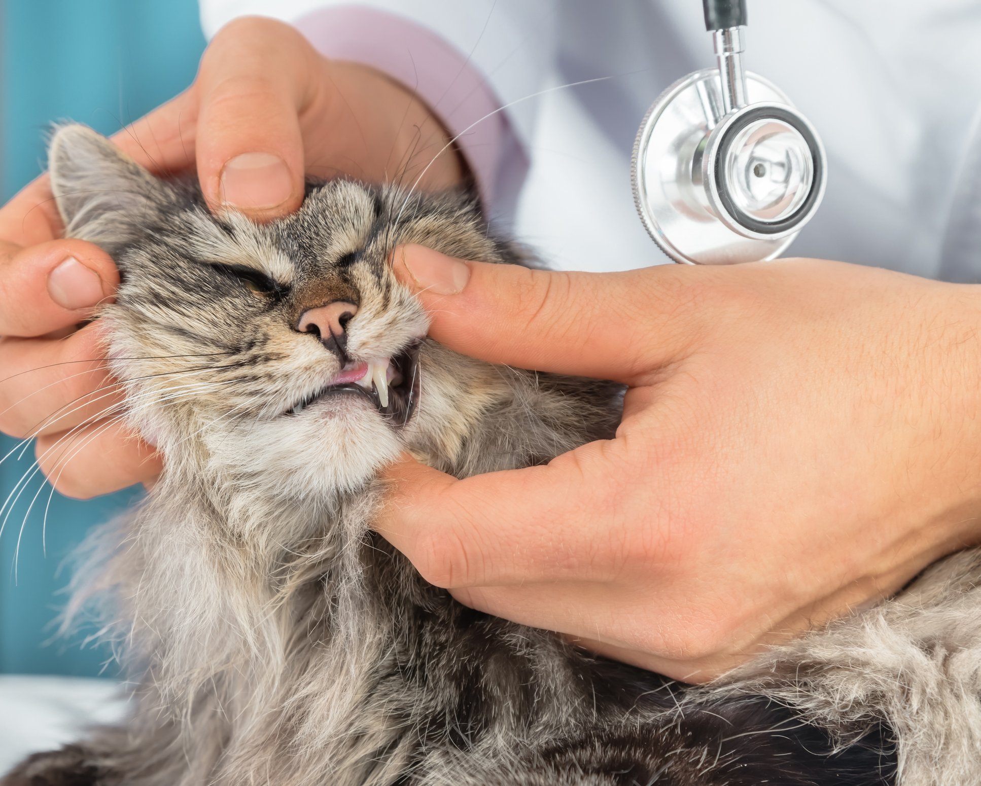
<instances>
[{"instance_id":1,"label":"bent finger of the right-hand hand under the cat's chin","mask_svg":"<svg viewBox=\"0 0 981 786\"><path fill-rule=\"evenodd\" d=\"M608 580L625 551L605 543L618 537L618 521L596 521L616 510L628 482L609 471L622 463L606 455L613 445L465 480L399 461L386 470L391 493L374 527L439 587Z\"/></svg>"}]
</instances>

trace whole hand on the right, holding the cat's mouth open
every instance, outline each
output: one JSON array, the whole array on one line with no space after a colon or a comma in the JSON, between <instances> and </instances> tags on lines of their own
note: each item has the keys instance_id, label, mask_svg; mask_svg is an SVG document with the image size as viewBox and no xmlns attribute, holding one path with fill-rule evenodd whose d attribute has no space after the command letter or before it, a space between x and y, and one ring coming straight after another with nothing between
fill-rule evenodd
<instances>
[{"instance_id":1,"label":"whole hand on the right, holding the cat's mouth open","mask_svg":"<svg viewBox=\"0 0 981 786\"><path fill-rule=\"evenodd\" d=\"M437 341L629 386L616 439L546 466L388 470L377 529L462 603L700 682L981 540L976 288L811 259L393 266Z\"/></svg>"}]
</instances>

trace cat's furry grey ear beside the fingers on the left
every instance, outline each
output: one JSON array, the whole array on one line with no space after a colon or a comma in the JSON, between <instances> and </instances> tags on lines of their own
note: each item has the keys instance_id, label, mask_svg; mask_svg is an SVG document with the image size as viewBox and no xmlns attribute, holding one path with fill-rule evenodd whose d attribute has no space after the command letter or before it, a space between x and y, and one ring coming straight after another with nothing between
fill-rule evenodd
<instances>
[{"instance_id":1,"label":"cat's furry grey ear beside the fingers on the left","mask_svg":"<svg viewBox=\"0 0 981 786\"><path fill-rule=\"evenodd\" d=\"M65 235L102 245L137 232L168 192L109 139L77 123L54 132L48 171Z\"/></svg>"}]
</instances>

